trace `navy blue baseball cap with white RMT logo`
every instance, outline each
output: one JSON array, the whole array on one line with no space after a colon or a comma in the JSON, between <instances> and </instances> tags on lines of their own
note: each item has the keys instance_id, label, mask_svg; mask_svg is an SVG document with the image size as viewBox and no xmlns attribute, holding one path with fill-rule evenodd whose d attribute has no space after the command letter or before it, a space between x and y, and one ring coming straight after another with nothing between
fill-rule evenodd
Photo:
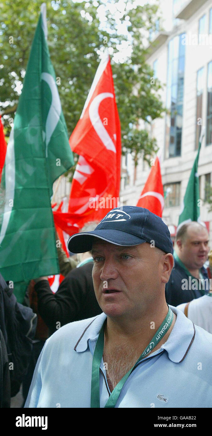
<instances>
[{"instance_id":1,"label":"navy blue baseball cap with white RMT logo","mask_svg":"<svg viewBox=\"0 0 212 436\"><path fill-rule=\"evenodd\" d=\"M164 221L148 209L137 206L112 209L92 232L72 235L68 239L68 250L72 253L91 251L94 238L123 246L154 242L153 246L173 254L170 232Z\"/></svg>"}]
</instances>

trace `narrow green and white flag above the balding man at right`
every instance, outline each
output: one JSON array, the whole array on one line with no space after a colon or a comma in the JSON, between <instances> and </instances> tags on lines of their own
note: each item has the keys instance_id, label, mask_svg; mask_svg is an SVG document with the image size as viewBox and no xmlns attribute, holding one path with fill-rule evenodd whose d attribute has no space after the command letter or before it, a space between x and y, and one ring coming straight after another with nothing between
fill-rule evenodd
<instances>
[{"instance_id":1,"label":"narrow green and white flag above the balding man at right","mask_svg":"<svg viewBox=\"0 0 212 436\"><path fill-rule=\"evenodd\" d=\"M178 228L180 228L183 224L186 224L187 222L190 221L198 221L201 223L198 159L199 159L199 152L200 152L203 136L204 136L204 129L202 129L201 137L199 139L199 148L198 148L197 156L195 158L194 165L191 170L191 174L188 180L188 185L185 191L184 200L181 205Z\"/></svg>"}]
</instances>

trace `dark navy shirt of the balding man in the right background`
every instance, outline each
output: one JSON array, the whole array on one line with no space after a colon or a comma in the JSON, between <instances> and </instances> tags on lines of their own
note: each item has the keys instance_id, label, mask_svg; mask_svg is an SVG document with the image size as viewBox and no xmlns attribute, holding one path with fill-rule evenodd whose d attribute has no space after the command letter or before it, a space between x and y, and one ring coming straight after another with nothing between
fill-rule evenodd
<instances>
[{"instance_id":1,"label":"dark navy shirt of the balding man in the right background","mask_svg":"<svg viewBox=\"0 0 212 436\"><path fill-rule=\"evenodd\" d=\"M208 278L207 271L204 267L201 268L204 279ZM182 280L187 279L188 275L179 263L174 259L174 268L171 271L171 276L165 286L166 302L171 306L178 306L181 303L199 298L205 294L204 290L182 290ZM183 282L184 283L184 282Z\"/></svg>"}]
</instances>

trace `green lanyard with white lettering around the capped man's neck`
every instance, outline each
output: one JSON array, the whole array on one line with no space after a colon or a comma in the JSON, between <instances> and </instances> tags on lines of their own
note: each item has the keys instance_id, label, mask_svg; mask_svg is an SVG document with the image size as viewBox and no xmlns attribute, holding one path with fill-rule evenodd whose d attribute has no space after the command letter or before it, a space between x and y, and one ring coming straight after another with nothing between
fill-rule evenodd
<instances>
[{"instance_id":1,"label":"green lanyard with white lettering around the capped man's neck","mask_svg":"<svg viewBox=\"0 0 212 436\"><path fill-rule=\"evenodd\" d=\"M137 360L137 362L134 364L133 368L130 369L130 371L127 372L127 374L124 375L124 377L119 381L119 383L116 385L116 387L113 389L113 392L111 392L109 399L106 402L105 407L112 408L115 407L117 399L119 398L120 392L123 388L123 385L133 369L135 368L135 365L142 359L144 359L147 354L150 353L154 349L154 347L158 344L159 341L161 341L162 337L166 332L168 331L169 327L171 327L171 323L173 321L174 314L172 310L169 307L168 313L163 320L162 324L160 325L159 329L155 333L154 337L150 341L150 343L147 345L143 353L141 354L140 358ZM106 322L106 320L105 320ZM103 357L103 350L104 350L104 325L105 322L99 332L99 337L96 342L96 347L93 353L93 360L92 360L92 378L91 378L91 408L99 408L100 407L100 400L99 400L99 372L100 372L100 363Z\"/></svg>"}]
</instances>

